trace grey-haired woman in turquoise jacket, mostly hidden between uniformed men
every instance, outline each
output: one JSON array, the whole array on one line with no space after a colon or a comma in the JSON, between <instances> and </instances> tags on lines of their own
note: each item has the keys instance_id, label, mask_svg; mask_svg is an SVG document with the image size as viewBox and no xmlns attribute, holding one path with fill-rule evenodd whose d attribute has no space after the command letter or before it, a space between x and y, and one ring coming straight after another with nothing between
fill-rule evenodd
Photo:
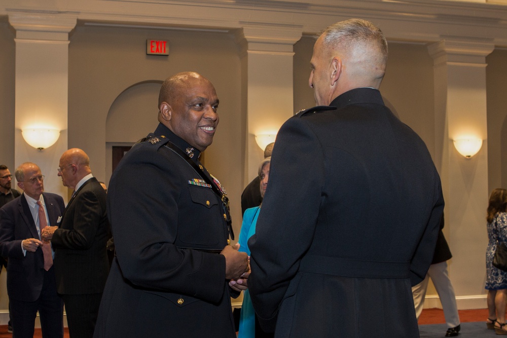
<instances>
[{"instance_id":1,"label":"grey-haired woman in turquoise jacket, mostly hidden between uniformed men","mask_svg":"<svg viewBox=\"0 0 507 338\"><path fill-rule=\"evenodd\" d=\"M268 186L269 178L269 164L271 157L265 158L259 165L259 178L261 179L260 189L261 196L264 197L264 192ZM241 232L239 233L238 243L240 244L239 251L246 252L250 256L250 249L248 248L248 239L255 234L255 226L257 217L261 207L253 207L245 210L243 215L243 223L241 224ZM255 311L250 298L250 293L245 290L243 293L243 304L241 305L241 316L239 319L239 333L238 338L253 338L253 337L272 337L272 333L262 332L262 329L257 325Z\"/></svg>"}]
</instances>

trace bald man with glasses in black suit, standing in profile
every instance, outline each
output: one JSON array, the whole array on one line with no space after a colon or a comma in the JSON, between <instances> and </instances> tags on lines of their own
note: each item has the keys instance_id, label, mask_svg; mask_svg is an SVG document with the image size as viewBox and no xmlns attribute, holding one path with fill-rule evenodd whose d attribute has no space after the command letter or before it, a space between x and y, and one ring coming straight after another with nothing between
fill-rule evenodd
<instances>
[{"instance_id":1,"label":"bald man with glasses in black suit, standing in profile","mask_svg":"<svg viewBox=\"0 0 507 338\"><path fill-rule=\"evenodd\" d=\"M69 336L90 338L109 272L106 193L81 149L63 153L58 176L74 193L59 228L46 228L43 234L56 249L56 285L65 303Z\"/></svg>"}]
</instances>

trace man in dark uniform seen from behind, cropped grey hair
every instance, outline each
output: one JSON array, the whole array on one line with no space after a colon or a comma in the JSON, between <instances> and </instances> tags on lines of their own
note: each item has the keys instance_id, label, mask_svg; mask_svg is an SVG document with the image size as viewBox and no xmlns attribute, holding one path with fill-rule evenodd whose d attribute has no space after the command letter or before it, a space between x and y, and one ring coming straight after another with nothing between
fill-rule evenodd
<instances>
[{"instance_id":1,"label":"man in dark uniform seen from behind, cropped grey hair","mask_svg":"<svg viewBox=\"0 0 507 338\"><path fill-rule=\"evenodd\" d=\"M275 336L419 336L411 285L444 201L424 142L378 91L386 60L371 22L328 27L310 62L318 106L278 132L248 241L253 306Z\"/></svg>"}]
</instances>

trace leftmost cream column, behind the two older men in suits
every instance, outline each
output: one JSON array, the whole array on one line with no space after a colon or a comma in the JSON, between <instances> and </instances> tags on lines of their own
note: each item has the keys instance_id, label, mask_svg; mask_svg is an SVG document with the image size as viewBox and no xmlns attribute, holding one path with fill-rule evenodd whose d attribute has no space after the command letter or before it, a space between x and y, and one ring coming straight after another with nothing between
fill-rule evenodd
<instances>
[{"instance_id":1,"label":"leftmost cream column, behind the two older men in suits","mask_svg":"<svg viewBox=\"0 0 507 338\"><path fill-rule=\"evenodd\" d=\"M15 165L39 165L46 176L45 191L66 199L67 189L56 168L67 149L68 33L77 19L68 14L14 12L9 22L16 30ZM56 128L60 137L39 151L21 135L30 127Z\"/></svg>"}]
</instances>

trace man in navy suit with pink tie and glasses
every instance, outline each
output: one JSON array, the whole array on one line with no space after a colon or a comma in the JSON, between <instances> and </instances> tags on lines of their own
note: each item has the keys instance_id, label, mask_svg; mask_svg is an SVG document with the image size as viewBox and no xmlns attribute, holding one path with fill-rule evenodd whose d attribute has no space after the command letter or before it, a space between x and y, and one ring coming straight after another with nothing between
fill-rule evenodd
<instances>
[{"instance_id":1,"label":"man in navy suit with pink tie and glasses","mask_svg":"<svg viewBox=\"0 0 507 338\"><path fill-rule=\"evenodd\" d=\"M51 243L41 228L57 223L63 199L44 192L44 176L33 163L16 169L21 197L0 209L0 255L9 258L7 293L13 336L32 338L39 311L43 337L63 337L63 302L56 292ZM40 205L39 205L40 204Z\"/></svg>"}]
</instances>

